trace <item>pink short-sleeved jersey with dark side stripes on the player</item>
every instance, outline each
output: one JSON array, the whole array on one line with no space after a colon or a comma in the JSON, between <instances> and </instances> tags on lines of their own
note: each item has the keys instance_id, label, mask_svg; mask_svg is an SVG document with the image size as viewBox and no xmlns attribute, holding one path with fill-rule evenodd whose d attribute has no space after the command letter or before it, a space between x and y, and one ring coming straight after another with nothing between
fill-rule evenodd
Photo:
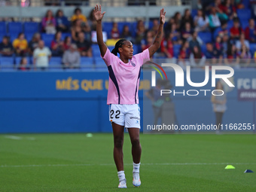
<instances>
[{"instance_id":1,"label":"pink short-sleeved jersey with dark side stripes on the player","mask_svg":"<svg viewBox=\"0 0 256 192\"><path fill-rule=\"evenodd\" d=\"M108 99L107 104L139 103L139 77L143 63L150 59L148 49L136 54L130 62L124 63L107 50L102 57L108 66Z\"/></svg>"}]
</instances>

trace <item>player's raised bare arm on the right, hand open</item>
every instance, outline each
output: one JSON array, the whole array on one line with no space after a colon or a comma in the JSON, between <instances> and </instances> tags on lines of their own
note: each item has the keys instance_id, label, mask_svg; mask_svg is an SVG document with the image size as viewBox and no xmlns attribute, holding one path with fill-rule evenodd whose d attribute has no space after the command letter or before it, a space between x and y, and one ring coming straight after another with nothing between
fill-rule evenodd
<instances>
[{"instance_id":1,"label":"player's raised bare arm on the right, hand open","mask_svg":"<svg viewBox=\"0 0 256 192\"><path fill-rule=\"evenodd\" d=\"M157 35L154 38L154 42L151 45L151 47L148 48L149 55L153 56L154 53L159 49L162 38L163 38L163 24L166 21L166 12L164 12L164 9L161 9L160 11L160 25L157 31Z\"/></svg>"}]
</instances>

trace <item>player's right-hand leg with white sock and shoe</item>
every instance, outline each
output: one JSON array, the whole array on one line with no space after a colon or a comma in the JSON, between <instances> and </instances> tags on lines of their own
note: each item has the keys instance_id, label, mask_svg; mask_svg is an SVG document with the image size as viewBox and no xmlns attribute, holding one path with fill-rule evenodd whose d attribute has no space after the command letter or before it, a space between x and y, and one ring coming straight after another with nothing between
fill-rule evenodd
<instances>
[{"instance_id":1,"label":"player's right-hand leg with white sock and shoe","mask_svg":"<svg viewBox=\"0 0 256 192\"><path fill-rule=\"evenodd\" d=\"M133 185L139 187L141 185L141 180L139 178L139 166L142 155L142 146L139 142L139 128L129 128L128 132L132 143Z\"/></svg>"}]
</instances>

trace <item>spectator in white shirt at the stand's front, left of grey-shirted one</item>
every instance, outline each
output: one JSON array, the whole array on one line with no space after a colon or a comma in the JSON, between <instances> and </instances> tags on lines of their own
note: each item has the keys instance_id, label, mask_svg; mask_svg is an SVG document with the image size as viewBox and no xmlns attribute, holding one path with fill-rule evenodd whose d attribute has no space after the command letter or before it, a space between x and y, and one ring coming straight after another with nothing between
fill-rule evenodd
<instances>
[{"instance_id":1,"label":"spectator in white shirt at the stand's front, left of grey-shirted one","mask_svg":"<svg viewBox=\"0 0 256 192\"><path fill-rule=\"evenodd\" d=\"M33 64L38 69L46 69L49 66L51 52L48 47L44 47L44 41L40 40L38 42L38 47L33 53Z\"/></svg>"}]
</instances>

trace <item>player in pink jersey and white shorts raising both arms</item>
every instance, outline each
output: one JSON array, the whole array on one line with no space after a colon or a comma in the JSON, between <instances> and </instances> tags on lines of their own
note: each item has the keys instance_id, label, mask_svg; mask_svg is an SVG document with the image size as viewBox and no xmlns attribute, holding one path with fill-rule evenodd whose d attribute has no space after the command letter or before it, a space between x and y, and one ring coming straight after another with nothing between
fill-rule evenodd
<instances>
[{"instance_id":1,"label":"player in pink jersey and white shorts raising both arms","mask_svg":"<svg viewBox=\"0 0 256 192\"><path fill-rule=\"evenodd\" d=\"M102 38L102 13L101 5L94 9L96 19L96 35L99 50L108 66L109 83L108 99L109 120L112 124L114 135L114 163L117 166L119 188L126 188L126 178L123 171L123 131L128 129L132 142L133 154L133 185L139 187L139 166L142 147L139 142L140 108L139 108L139 77L143 63L148 61L160 47L163 36L163 23L165 22L164 9L160 11L160 26L153 44L142 53L133 55L133 44L126 39L120 39L110 52ZM120 58L117 57L120 54Z\"/></svg>"}]
</instances>

